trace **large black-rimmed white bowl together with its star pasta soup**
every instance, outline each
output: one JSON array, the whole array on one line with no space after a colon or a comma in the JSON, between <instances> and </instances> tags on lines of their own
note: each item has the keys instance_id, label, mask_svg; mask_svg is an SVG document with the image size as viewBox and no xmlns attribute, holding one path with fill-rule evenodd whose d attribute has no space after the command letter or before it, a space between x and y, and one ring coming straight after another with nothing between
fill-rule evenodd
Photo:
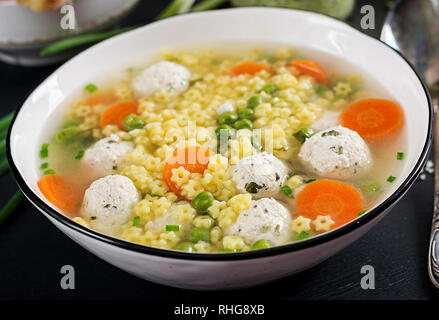
<instances>
[{"instance_id":1,"label":"large black-rimmed white bowl together with its star pasta soup","mask_svg":"<svg viewBox=\"0 0 439 320\"><path fill-rule=\"evenodd\" d=\"M276 30L250 23L266 15ZM384 44L318 14L226 10L79 55L20 110L10 151L30 200L98 256L160 283L232 288L368 230L419 173L430 115L421 80Z\"/></svg>"}]
</instances>

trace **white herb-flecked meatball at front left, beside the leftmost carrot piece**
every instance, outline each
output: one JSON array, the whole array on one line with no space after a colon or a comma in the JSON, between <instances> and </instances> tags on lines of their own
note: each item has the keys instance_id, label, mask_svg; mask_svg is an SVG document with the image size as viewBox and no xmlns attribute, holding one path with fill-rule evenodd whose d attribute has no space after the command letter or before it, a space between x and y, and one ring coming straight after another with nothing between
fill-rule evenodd
<instances>
[{"instance_id":1,"label":"white herb-flecked meatball at front left, beside the leftmost carrot piece","mask_svg":"<svg viewBox=\"0 0 439 320\"><path fill-rule=\"evenodd\" d=\"M129 178L110 175L94 181L85 191L81 213L93 229L115 235L129 220L137 201L139 193Z\"/></svg>"}]
</instances>

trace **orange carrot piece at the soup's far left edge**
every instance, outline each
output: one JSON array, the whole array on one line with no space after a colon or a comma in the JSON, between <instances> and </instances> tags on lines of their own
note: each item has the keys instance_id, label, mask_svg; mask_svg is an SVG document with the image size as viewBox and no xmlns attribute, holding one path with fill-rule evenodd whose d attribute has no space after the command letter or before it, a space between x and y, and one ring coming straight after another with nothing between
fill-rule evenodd
<instances>
[{"instance_id":1,"label":"orange carrot piece at the soup's far left edge","mask_svg":"<svg viewBox=\"0 0 439 320\"><path fill-rule=\"evenodd\" d=\"M38 188L46 199L68 214L79 211L84 191L64 178L48 174L38 181Z\"/></svg>"}]
</instances>

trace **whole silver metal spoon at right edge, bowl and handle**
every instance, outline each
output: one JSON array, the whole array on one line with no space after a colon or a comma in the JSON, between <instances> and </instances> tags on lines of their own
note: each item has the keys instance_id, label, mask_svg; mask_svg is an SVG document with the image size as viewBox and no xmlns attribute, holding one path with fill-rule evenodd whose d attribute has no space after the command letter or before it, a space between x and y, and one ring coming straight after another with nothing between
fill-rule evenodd
<instances>
[{"instance_id":1,"label":"whole silver metal spoon at right edge, bowl and handle","mask_svg":"<svg viewBox=\"0 0 439 320\"><path fill-rule=\"evenodd\" d=\"M391 10L381 40L401 51L424 75L434 102L434 209L428 274L439 288L439 0L402 0Z\"/></svg>"}]
</instances>

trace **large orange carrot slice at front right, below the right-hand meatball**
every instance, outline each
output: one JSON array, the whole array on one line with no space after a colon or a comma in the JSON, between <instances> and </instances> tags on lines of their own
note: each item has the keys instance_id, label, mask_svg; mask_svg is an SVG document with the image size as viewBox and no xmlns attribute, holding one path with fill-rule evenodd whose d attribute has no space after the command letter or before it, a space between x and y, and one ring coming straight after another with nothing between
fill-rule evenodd
<instances>
[{"instance_id":1,"label":"large orange carrot slice at front right, below the right-hand meatball","mask_svg":"<svg viewBox=\"0 0 439 320\"><path fill-rule=\"evenodd\" d=\"M347 183L322 179L308 183L297 195L296 212L311 220L330 216L339 227L358 216L363 209L360 193Z\"/></svg>"}]
</instances>

